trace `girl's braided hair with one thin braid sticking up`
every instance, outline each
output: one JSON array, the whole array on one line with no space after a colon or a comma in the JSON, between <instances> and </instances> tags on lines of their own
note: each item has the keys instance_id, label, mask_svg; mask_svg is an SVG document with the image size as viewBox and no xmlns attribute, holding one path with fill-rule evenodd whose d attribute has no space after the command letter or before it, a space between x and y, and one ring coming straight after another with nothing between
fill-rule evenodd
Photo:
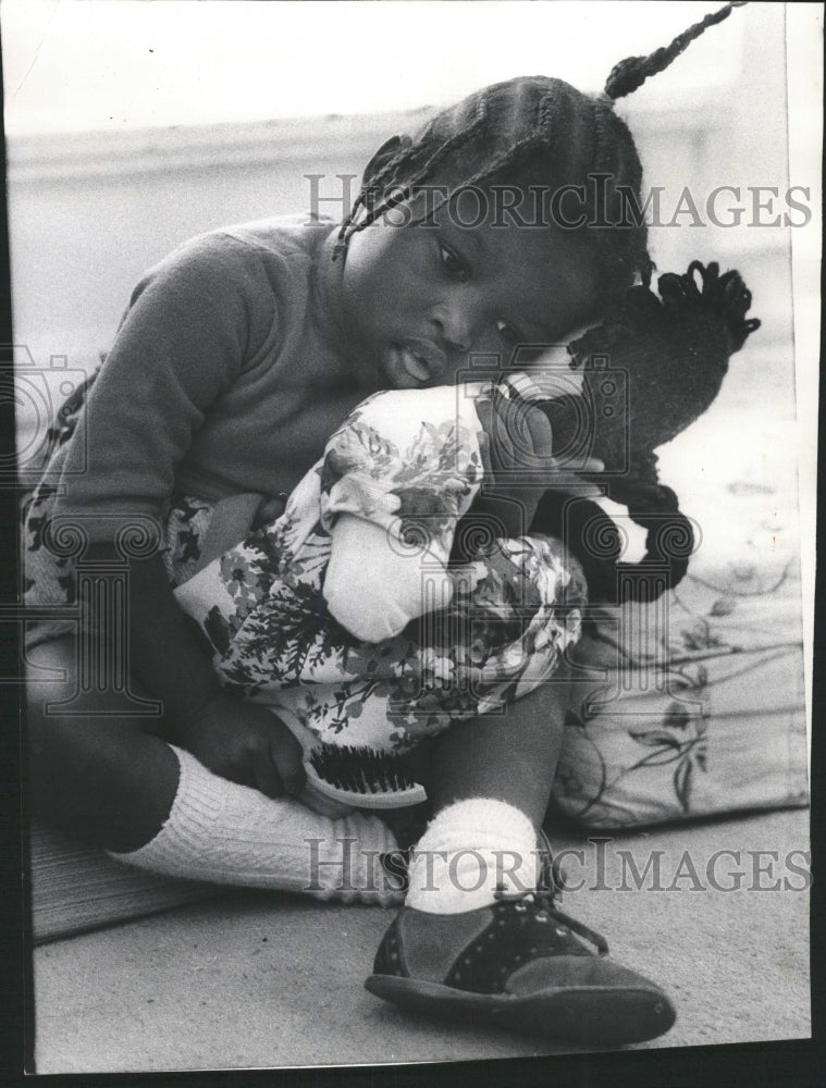
<instances>
[{"instance_id":1,"label":"girl's braided hair with one thin braid sticking up","mask_svg":"<svg viewBox=\"0 0 826 1088\"><path fill-rule=\"evenodd\" d=\"M412 140L391 141L341 225L333 259L346 255L354 234L412 198L442 171L454 194L497 184L541 186L545 193L577 186L584 193L579 231L594 243L603 301L611 304L634 282L649 285L654 264L648 230L642 217L629 224L626 211L631 200L641 208L642 166L614 102L662 72L737 7L727 4L649 57L620 61L601 96L583 95L562 79L519 77L443 110ZM616 224L621 228L605 230Z\"/></svg>"}]
</instances>

